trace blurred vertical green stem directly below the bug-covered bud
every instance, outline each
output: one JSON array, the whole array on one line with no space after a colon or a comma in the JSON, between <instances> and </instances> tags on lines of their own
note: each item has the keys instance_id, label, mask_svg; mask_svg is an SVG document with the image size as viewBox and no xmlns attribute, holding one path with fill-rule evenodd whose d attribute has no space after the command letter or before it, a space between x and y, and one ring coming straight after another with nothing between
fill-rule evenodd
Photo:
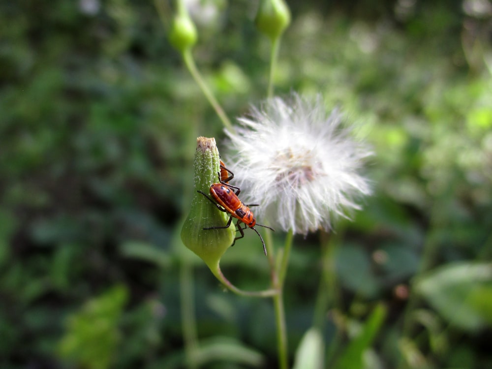
<instances>
[{"instance_id":1,"label":"blurred vertical green stem directly below the bug-covered bud","mask_svg":"<svg viewBox=\"0 0 492 369\"><path fill-rule=\"evenodd\" d=\"M198 339L196 333L195 299L193 297L193 267L186 256L182 258L180 268L181 311L184 338L184 351L188 368L197 368L195 361Z\"/></svg>"}]
</instances>

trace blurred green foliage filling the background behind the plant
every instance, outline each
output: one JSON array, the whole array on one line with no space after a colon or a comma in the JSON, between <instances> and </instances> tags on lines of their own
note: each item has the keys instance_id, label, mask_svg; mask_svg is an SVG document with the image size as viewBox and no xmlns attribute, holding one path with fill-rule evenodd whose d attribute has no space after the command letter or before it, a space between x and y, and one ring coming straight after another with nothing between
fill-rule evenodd
<instances>
[{"instance_id":1,"label":"blurred green foliage filling the background behind the plant","mask_svg":"<svg viewBox=\"0 0 492 369\"><path fill-rule=\"evenodd\" d=\"M374 195L335 226L343 323L329 316L323 332L334 361L382 303L371 368L400 355L410 368L492 368L491 2L287 2L277 94L322 93L376 154ZM240 116L268 81L257 2L194 6L197 64ZM0 4L2 369L184 367L179 232L195 139L215 137L225 158L227 147L165 26L150 1ZM253 290L268 285L254 236L221 263ZM319 252L319 235L295 239L291 357L311 325ZM203 367L274 368L271 302L224 294L192 263L198 337L231 356ZM405 319L411 339L397 347Z\"/></svg>"}]
</instances>

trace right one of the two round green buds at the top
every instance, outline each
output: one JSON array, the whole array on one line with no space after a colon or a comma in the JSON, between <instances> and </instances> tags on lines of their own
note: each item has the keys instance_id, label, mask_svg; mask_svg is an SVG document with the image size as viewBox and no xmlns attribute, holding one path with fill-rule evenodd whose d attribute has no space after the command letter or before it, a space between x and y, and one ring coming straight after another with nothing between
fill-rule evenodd
<instances>
[{"instance_id":1,"label":"right one of the two round green buds at the top","mask_svg":"<svg viewBox=\"0 0 492 369\"><path fill-rule=\"evenodd\" d=\"M290 24L289 7L284 0L260 0L254 23L260 32L275 40Z\"/></svg>"}]
</instances>

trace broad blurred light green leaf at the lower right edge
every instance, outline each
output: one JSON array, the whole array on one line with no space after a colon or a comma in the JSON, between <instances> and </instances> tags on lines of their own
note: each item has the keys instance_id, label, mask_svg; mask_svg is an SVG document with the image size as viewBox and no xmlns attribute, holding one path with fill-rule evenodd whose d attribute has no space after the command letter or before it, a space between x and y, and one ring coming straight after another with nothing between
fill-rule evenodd
<instances>
[{"instance_id":1,"label":"broad blurred light green leaf at the lower right edge","mask_svg":"<svg viewBox=\"0 0 492 369\"><path fill-rule=\"evenodd\" d=\"M461 329L474 331L492 323L492 263L440 267L419 279L415 289Z\"/></svg>"}]
</instances>

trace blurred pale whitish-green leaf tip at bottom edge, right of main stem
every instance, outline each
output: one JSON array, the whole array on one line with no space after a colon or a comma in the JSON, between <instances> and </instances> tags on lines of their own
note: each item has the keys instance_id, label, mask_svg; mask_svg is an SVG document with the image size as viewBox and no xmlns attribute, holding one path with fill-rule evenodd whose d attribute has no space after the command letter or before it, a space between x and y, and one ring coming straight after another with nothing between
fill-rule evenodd
<instances>
[{"instance_id":1,"label":"blurred pale whitish-green leaf tip at bottom edge, right of main stem","mask_svg":"<svg viewBox=\"0 0 492 369\"><path fill-rule=\"evenodd\" d=\"M323 348L323 337L319 330L308 329L297 348L293 369L323 368Z\"/></svg>"}]
</instances>

